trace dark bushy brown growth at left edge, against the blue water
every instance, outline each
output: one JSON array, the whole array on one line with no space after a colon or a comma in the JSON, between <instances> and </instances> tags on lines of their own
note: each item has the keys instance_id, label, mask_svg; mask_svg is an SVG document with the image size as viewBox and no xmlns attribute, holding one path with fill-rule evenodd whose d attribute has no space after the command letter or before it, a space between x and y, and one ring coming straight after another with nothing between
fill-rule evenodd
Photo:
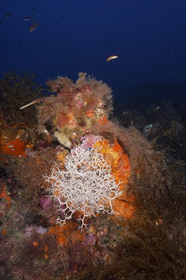
<instances>
[{"instance_id":1,"label":"dark bushy brown growth at left edge, against the blue water","mask_svg":"<svg viewBox=\"0 0 186 280\"><path fill-rule=\"evenodd\" d=\"M4 73L0 80L1 111L10 126L20 122L32 126L37 123L35 106L20 110L20 107L42 96L42 86L36 85L35 75L25 71L22 75L16 69Z\"/></svg>"}]
</instances>

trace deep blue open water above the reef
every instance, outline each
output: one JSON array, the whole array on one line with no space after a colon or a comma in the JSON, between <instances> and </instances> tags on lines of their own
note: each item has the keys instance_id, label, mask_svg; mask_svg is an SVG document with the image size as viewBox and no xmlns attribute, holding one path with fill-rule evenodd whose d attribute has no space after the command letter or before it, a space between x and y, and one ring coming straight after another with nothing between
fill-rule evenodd
<instances>
[{"instance_id":1,"label":"deep blue open water above the reef","mask_svg":"<svg viewBox=\"0 0 186 280\"><path fill-rule=\"evenodd\" d=\"M0 12L1 78L15 68L32 70L39 83L57 75L76 80L83 71L107 82L114 98L123 100L139 84L171 90L186 81L184 0L2 0ZM38 28L28 32L34 22ZM112 54L118 58L106 62Z\"/></svg>"}]
</instances>

